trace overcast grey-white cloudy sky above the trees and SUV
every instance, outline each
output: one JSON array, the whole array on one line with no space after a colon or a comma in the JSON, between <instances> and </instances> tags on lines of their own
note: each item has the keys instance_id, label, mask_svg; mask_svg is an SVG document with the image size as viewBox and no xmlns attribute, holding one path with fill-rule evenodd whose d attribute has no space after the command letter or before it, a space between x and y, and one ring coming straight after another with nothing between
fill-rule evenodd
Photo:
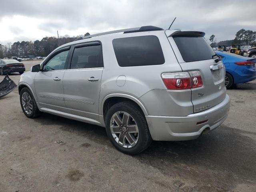
<instances>
[{"instance_id":1,"label":"overcast grey-white cloudy sky above the trees and SUV","mask_svg":"<svg viewBox=\"0 0 256 192\"><path fill-rule=\"evenodd\" d=\"M0 43L154 25L234 39L256 31L256 0L0 0Z\"/></svg>"}]
</instances>

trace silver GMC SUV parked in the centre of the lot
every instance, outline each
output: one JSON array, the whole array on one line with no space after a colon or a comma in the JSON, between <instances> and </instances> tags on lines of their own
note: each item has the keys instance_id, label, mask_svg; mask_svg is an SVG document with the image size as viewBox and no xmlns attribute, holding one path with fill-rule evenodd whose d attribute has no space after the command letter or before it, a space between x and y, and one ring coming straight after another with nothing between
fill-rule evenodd
<instances>
[{"instance_id":1,"label":"silver GMC SUV parked in the centre of the lot","mask_svg":"<svg viewBox=\"0 0 256 192\"><path fill-rule=\"evenodd\" d=\"M229 111L225 68L204 32L144 26L84 36L21 75L20 104L106 128L112 144L138 154L152 140L192 140Z\"/></svg>"}]
</instances>

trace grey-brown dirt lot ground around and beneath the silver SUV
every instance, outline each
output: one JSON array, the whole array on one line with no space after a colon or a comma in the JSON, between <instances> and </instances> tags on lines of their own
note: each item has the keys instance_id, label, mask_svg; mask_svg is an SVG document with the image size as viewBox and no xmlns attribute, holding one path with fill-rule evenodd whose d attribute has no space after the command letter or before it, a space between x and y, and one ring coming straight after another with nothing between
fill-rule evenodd
<instances>
[{"instance_id":1,"label":"grey-brown dirt lot ground around and beneath the silver SUV","mask_svg":"<svg viewBox=\"0 0 256 192\"><path fill-rule=\"evenodd\" d=\"M228 94L229 116L210 134L128 156L104 128L51 114L26 118L16 89L0 98L0 192L255 192L256 81Z\"/></svg>"}]
</instances>

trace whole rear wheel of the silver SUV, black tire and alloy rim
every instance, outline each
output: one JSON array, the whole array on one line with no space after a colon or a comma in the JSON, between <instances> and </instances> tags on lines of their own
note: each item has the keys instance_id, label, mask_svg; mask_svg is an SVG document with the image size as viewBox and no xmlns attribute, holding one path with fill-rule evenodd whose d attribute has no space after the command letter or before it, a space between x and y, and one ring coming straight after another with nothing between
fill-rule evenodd
<instances>
[{"instance_id":1,"label":"whole rear wheel of the silver SUV, black tire and alloy rim","mask_svg":"<svg viewBox=\"0 0 256 192\"><path fill-rule=\"evenodd\" d=\"M126 117L130 115L127 121L122 119L125 115ZM122 124L122 126L118 126L116 120L114 120L114 118L116 119L118 116L119 120L121 120L119 124ZM127 122L127 124L124 124L124 122ZM148 148L152 142L146 118L140 108L133 102L124 101L114 104L106 114L105 124L110 142L125 154L139 154ZM114 130L116 130L116 132ZM119 131L120 133L118 133ZM119 141L120 138L121 141ZM124 139L122 140L122 138ZM131 142L128 142L128 138L132 138L133 140L130 141L136 140L136 142L131 144Z\"/></svg>"}]
</instances>

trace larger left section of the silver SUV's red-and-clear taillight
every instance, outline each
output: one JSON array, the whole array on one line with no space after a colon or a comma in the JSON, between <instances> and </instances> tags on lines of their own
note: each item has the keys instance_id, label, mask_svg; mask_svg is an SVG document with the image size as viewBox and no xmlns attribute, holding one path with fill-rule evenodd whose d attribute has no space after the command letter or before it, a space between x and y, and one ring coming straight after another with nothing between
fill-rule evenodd
<instances>
[{"instance_id":1,"label":"larger left section of the silver SUV's red-and-clear taillight","mask_svg":"<svg viewBox=\"0 0 256 192\"><path fill-rule=\"evenodd\" d=\"M171 90L191 88L191 78L188 72L162 73L162 80Z\"/></svg>"}]
</instances>

